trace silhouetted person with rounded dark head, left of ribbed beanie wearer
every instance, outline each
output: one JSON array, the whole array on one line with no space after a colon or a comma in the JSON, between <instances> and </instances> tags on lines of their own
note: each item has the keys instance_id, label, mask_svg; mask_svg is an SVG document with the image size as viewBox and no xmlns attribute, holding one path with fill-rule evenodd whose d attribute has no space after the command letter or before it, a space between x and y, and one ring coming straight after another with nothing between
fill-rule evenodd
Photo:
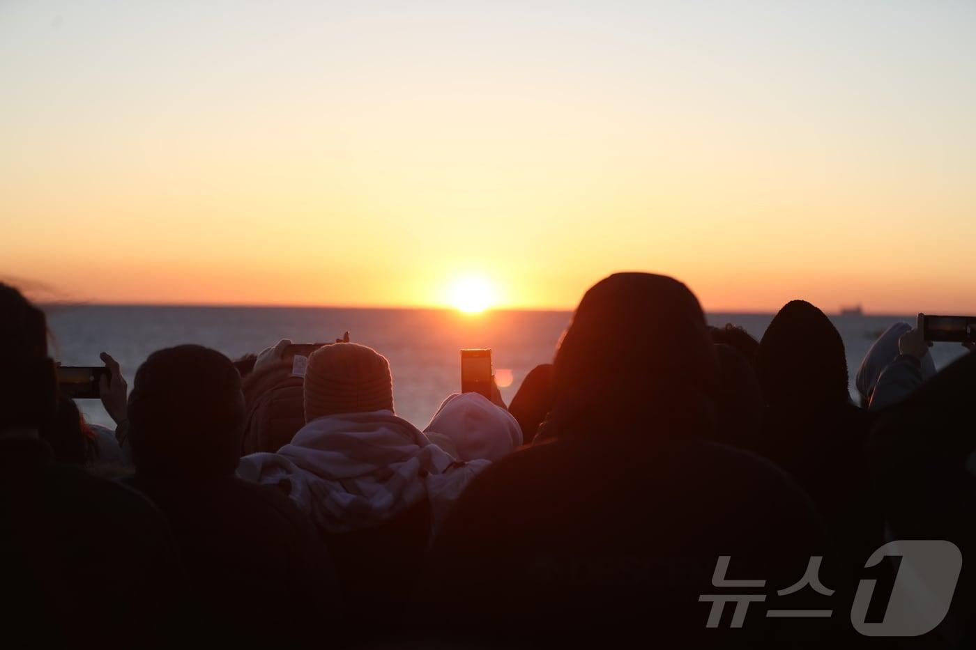
<instances>
[{"instance_id":1,"label":"silhouetted person with rounded dark head, left of ribbed beanie wearer","mask_svg":"<svg viewBox=\"0 0 976 650\"><path fill-rule=\"evenodd\" d=\"M308 519L237 478L244 397L223 354L153 352L129 395L132 484L167 515L200 597L208 640L335 640L337 587ZM207 637L205 637L207 638Z\"/></svg>"}]
</instances>

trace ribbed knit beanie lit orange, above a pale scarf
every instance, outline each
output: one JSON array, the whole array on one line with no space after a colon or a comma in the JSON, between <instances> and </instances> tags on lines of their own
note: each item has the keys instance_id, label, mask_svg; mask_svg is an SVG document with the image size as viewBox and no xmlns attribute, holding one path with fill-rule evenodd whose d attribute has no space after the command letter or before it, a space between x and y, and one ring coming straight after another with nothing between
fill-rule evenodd
<instances>
[{"instance_id":1,"label":"ribbed knit beanie lit orange, above a pale scarf","mask_svg":"<svg viewBox=\"0 0 976 650\"><path fill-rule=\"evenodd\" d=\"M337 413L393 410L386 357L372 347L338 343L318 348L305 369L305 422Z\"/></svg>"}]
</instances>

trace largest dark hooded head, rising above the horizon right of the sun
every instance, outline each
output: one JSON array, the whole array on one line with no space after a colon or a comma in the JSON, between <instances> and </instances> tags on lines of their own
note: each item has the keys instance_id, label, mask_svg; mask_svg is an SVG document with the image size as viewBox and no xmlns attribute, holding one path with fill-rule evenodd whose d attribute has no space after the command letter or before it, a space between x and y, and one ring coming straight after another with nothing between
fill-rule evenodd
<instances>
[{"instance_id":1,"label":"largest dark hooded head, rising above the horizon right of the sun","mask_svg":"<svg viewBox=\"0 0 976 650\"><path fill-rule=\"evenodd\" d=\"M593 285L552 372L556 435L628 426L663 432L658 425L680 428L691 417L713 427L712 339L698 300L673 278L615 273Z\"/></svg>"}]
</instances>

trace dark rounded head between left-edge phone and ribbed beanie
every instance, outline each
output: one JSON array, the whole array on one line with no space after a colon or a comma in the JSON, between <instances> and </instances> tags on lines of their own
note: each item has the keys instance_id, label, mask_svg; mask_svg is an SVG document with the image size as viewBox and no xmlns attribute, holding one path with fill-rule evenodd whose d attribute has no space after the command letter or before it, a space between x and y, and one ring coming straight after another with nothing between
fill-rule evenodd
<instances>
[{"instance_id":1,"label":"dark rounded head between left-edge phone and ribbed beanie","mask_svg":"<svg viewBox=\"0 0 976 650\"><path fill-rule=\"evenodd\" d=\"M244 423L240 375L230 359L201 345L153 352L129 395L129 437L146 476L232 474Z\"/></svg>"}]
</instances>

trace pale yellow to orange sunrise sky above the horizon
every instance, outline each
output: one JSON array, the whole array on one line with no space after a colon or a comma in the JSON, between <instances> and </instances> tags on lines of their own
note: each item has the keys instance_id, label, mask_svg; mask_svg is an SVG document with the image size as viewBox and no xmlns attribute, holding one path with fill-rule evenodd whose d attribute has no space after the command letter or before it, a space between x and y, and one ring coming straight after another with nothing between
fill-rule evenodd
<instances>
[{"instance_id":1,"label":"pale yellow to orange sunrise sky above the horizon","mask_svg":"<svg viewBox=\"0 0 976 650\"><path fill-rule=\"evenodd\" d=\"M976 312L976 3L0 0L0 277L64 300Z\"/></svg>"}]
</instances>

